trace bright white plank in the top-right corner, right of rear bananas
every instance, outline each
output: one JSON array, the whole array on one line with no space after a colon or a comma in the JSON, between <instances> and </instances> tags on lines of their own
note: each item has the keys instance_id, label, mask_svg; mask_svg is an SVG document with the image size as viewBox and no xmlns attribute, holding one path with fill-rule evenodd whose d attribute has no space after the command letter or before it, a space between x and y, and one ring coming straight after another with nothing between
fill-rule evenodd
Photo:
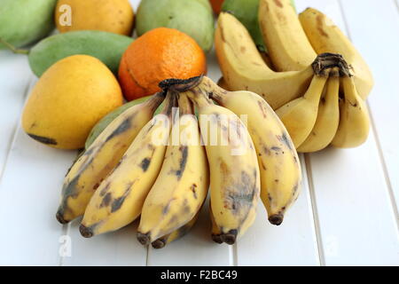
<instances>
[{"instance_id":1,"label":"bright white plank in the top-right corner, right of rear bananas","mask_svg":"<svg viewBox=\"0 0 399 284\"><path fill-rule=\"evenodd\" d=\"M348 34L372 68L375 86L368 99L372 120L386 163L390 189L399 207L399 11L395 2L342 1ZM372 13L371 13L372 11ZM356 17L357 15L357 17ZM367 20L364 16L367 15ZM371 36L372 43L371 44ZM399 218L399 216L396 216Z\"/></svg>"}]
</instances>

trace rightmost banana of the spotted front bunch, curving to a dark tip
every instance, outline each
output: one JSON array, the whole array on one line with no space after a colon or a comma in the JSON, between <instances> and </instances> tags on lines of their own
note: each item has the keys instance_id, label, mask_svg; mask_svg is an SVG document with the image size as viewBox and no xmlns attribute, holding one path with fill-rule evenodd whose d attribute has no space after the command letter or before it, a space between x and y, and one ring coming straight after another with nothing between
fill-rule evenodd
<instances>
[{"instance_id":1,"label":"rightmost banana of the spotted front bunch, curving to a dark tip","mask_svg":"<svg viewBox=\"0 0 399 284\"><path fill-rule=\"evenodd\" d=\"M264 99L251 91L224 91L207 77L197 87L234 114L247 115L261 173L261 198L271 224L280 225L300 193L301 164L284 124ZM262 123L261 123L262 122Z\"/></svg>"}]
</instances>

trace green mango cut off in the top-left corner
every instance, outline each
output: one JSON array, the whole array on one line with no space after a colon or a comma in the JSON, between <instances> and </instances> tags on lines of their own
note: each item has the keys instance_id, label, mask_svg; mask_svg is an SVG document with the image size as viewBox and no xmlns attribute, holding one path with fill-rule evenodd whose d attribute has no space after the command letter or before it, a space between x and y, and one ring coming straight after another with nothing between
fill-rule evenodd
<instances>
[{"instance_id":1,"label":"green mango cut off in the top-left corner","mask_svg":"<svg viewBox=\"0 0 399 284\"><path fill-rule=\"evenodd\" d=\"M50 34L57 0L0 0L0 39L15 47ZM5 44L0 43L0 49Z\"/></svg>"}]
</instances>

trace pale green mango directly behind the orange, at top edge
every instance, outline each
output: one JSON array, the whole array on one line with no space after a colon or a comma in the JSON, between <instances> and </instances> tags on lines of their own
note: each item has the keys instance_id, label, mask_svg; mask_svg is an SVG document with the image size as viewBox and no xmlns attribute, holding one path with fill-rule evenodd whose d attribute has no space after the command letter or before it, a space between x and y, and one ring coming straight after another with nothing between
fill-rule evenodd
<instances>
[{"instance_id":1,"label":"pale green mango directly behind the orange, at top edge","mask_svg":"<svg viewBox=\"0 0 399 284\"><path fill-rule=\"evenodd\" d=\"M214 16L205 0L142 0L136 27L138 36L153 28L176 28L192 36L206 52L214 43Z\"/></svg>"}]
</instances>

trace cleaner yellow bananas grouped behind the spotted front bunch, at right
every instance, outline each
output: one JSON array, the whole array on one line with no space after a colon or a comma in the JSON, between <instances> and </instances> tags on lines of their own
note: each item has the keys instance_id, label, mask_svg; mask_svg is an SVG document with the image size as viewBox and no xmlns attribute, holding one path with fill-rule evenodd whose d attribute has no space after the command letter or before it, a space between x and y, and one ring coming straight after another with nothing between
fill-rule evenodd
<instances>
[{"instance_id":1,"label":"cleaner yellow bananas grouped behind the spotted front bunch, at right","mask_svg":"<svg viewBox=\"0 0 399 284\"><path fill-rule=\"evenodd\" d=\"M325 25L331 36L319 36L323 40L317 42L321 15L308 9L298 19L290 1L261 0L260 27L278 71L263 61L246 28L230 13L219 16L215 31L223 73L220 85L260 94L285 124L294 147L303 153L329 145L359 146L370 128L363 99L372 88L371 73L337 27ZM330 40L333 43L328 44ZM340 52L348 56L350 65Z\"/></svg>"}]
</instances>

